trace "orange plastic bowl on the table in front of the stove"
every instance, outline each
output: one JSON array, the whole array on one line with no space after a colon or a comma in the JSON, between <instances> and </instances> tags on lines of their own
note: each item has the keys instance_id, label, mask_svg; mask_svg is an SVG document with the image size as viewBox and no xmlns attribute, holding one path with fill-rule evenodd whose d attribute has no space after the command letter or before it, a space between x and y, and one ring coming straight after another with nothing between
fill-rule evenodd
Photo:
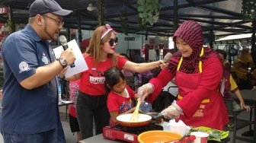
<instances>
[{"instance_id":1,"label":"orange plastic bowl on the table in front of the stove","mask_svg":"<svg viewBox=\"0 0 256 143\"><path fill-rule=\"evenodd\" d=\"M182 138L182 135L176 132L154 130L139 134L138 141L140 143L161 143L167 141L174 141L180 138Z\"/></svg>"}]
</instances>

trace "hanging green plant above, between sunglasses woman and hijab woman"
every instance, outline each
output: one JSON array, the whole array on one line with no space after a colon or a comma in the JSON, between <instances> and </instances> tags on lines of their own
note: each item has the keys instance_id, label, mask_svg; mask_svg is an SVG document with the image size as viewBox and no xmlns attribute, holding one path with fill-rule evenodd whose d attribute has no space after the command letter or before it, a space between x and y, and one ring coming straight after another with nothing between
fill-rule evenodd
<instances>
[{"instance_id":1,"label":"hanging green plant above, between sunglasses woman and hijab woman","mask_svg":"<svg viewBox=\"0 0 256 143\"><path fill-rule=\"evenodd\" d=\"M138 0L139 24L146 29L146 24L158 21L161 0Z\"/></svg>"}]
</instances>

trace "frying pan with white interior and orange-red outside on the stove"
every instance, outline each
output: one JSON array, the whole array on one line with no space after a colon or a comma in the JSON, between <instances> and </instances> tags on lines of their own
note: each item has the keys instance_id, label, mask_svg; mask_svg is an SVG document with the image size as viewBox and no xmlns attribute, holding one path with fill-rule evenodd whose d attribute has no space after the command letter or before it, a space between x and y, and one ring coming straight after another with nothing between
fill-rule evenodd
<instances>
[{"instance_id":1,"label":"frying pan with white interior and orange-red outside on the stove","mask_svg":"<svg viewBox=\"0 0 256 143\"><path fill-rule=\"evenodd\" d=\"M146 126L152 121L152 119L162 118L163 115L161 113L154 113L154 115L147 115L144 113L139 113L139 119L137 122L130 122L130 116L133 113L122 114L117 116L117 122L121 126Z\"/></svg>"}]
</instances>

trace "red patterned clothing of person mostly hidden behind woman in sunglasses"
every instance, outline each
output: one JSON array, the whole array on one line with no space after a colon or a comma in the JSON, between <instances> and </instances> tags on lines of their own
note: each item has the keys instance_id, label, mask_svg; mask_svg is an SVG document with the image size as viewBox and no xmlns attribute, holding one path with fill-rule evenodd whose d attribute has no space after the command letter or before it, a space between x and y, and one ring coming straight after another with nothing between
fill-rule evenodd
<instances>
[{"instance_id":1,"label":"red patterned clothing of person mostly hidden behind woman in sunglasses","mask_svg":"<svg viewBox=\"0 0 256 143\"><path fill-rule=\"evenodd\" d=\"M69 100L74 102L73 104L69 105L69 114L76 117L76 99L79 93L79 84L81 80L78 79L76 81L69 82Z\"/></svg>"}]
</instances>

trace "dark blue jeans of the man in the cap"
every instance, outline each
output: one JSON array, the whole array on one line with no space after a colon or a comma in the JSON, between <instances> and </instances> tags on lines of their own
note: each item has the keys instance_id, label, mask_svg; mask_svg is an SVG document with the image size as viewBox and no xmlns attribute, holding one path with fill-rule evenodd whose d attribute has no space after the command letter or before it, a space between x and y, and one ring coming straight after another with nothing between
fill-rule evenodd
<instances>
[{"instance_id":1,"label":"dark blue jeans of the man in the cap","mask_svg":"<svg viewBox=\"0 0 256 143\"><path fill-rule=\"evenodd\" d=\"M1 133L5 143L57 143L57 129L30 135Z\"/></svg>"}]
</instances>

